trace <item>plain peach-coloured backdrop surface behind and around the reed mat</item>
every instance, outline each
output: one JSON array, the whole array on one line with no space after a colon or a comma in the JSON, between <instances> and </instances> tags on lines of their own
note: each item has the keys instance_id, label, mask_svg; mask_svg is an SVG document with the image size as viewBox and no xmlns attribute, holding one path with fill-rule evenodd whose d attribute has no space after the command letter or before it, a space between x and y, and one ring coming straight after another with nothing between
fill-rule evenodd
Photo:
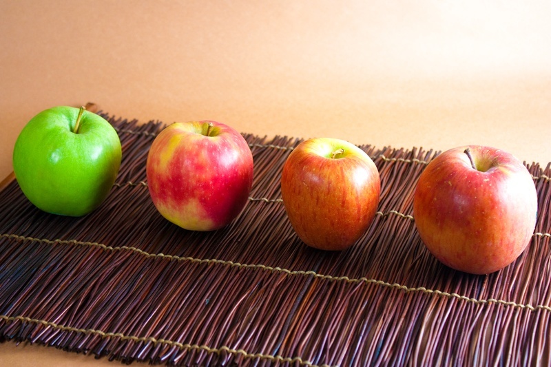
<instances>
[{"instance_id":1,"label":"plain peach-coloured backdrop surface behind and around the reed mat","mask_svg":"<svg viewBox=\"0 0 551 367\"><path fill-rule=\"evenodd\" d=\"M0 1L0 178L42 109L551 161L548 1ZM107 364L0 345L0 364Z\"/></svg>"}]
</instances>

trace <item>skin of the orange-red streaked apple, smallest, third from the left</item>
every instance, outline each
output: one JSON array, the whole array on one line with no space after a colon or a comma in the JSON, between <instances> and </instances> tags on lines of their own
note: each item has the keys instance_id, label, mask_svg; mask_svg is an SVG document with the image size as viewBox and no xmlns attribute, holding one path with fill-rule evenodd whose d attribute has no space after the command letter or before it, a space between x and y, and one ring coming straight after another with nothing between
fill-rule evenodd
<instances>
[{"instance_id":1,"label":"skin of the orange-red streaked apple, smallest, third from the left","mask_svg":"<svg viewBox=\"0 0 551 367\"><path fill-rule=\"evenodd\" d=\"M332 158L333 152L343 149ZM335 138L311 138L284 163L282 200L298 237L316 249L351 247L373 221L381 182L373 160Z\"/></svg>"}]
</instances>

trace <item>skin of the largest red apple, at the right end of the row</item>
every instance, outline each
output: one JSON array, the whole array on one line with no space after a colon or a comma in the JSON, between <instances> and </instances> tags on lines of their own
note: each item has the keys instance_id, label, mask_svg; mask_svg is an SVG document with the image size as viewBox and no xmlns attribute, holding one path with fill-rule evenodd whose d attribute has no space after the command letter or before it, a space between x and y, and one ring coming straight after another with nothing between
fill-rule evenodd
<instances>
[{"instance_id":1,"label":"skin of the largest red apple, at the right end of the row","mask_svg":"<svg viewBox=\"0 0 551 367\"><path fill-rule=\"evenodd\" d=\"M489 274L526 249L537 205L534 181L517 158L471 145L445 151L427 165L415 188L413 218L440 262L466 273Z\"/></svg>"}]
</instances>

